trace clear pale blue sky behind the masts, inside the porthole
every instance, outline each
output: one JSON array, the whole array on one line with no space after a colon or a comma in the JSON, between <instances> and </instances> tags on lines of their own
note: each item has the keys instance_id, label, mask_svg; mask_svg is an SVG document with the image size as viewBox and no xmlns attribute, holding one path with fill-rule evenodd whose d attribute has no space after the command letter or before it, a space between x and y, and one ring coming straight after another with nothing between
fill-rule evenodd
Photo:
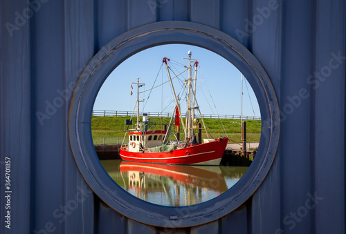
<instances>
[{"instance_id":1,"label":"clear pale blue sky behind the masts, inside the porthole","mask_svg":"<svg viewBox=\"0 0 346 234\"><path fill-rule=\"evenodd\" d=\"M217 114L218 112L220 115L240 115L241 73L239 70L233 64L230 64L229 61L210 50L183 44L156 46L138 52L126 61L123 61L104 81L95 99L93 110L132 111L136 104L137 90L136 85L133 85L134 94L130 95L131 83L136 82L137 77L140 77L140 83L145 83L145 87L140 88L140 91L143 91L152 88L155 79L154 86L161 84L162 81L167 81L167 70L165 66L161 68L163 57L171 59L172 66L170 67L177 75L179 71L182 72L186 69L179 64L188 65L188 60L182 59L183 57L188 57L188 50L192 51L192 59L199 61L200 68L197 72L199 85L197 85L196 92L201 113ZM174 77L172 72L171 76ZM183 73L183 77L186 79L188 72ZM183 80L183 77L180 77L180 79ZM246 84L248 89L246 89ZM181 82L178 79L174 79L174 88L176 93L179 93L181 90ZM202 90L206 97L204 97ZM145 104L144 111L146 112L172 113L174 102L171 103L171 101L174 99L174 96L169 83L152 90L149 99L147 99L148 95L149 91L140 94L140 100L145 100L140 102L140 111L143 111ZM181 95L181 97L185 97L185 95ZM181 105L182 111L185 110L185 101ZM253 116L253 109L255 110L255 115L260 116L257 99L250 84L244 79L243 115Z\"/></svg>"}]
</instances>

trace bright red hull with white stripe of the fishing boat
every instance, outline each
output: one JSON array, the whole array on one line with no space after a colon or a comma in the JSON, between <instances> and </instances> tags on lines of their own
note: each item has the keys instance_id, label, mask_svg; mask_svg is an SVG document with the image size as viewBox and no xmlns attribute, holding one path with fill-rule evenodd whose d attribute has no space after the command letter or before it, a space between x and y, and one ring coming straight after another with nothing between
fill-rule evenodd
<instances>
[{"instance_id":1,"label":"bright red hull with white stripe of the fishing boat","mask_svg":"<svg viewBox=\"0 0 346 234\"><path fill-rule=\"evenodd\" d=\"M120 148L120 157L130 162L147 162L156 164L197 164L219 165L224 155L228 138L217 139L195 146L189 146L170 152L138 153Z\"/></svg>"}]
</instances>

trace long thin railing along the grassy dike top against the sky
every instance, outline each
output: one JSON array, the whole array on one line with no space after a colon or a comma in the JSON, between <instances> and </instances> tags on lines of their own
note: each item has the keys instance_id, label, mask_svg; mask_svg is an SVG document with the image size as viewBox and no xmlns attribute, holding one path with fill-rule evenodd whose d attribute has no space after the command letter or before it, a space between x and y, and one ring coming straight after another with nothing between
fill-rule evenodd
<instances>
[{"instance_id":1,"label":"long thin railing along the grassy dike top against the sky","mask_svg":"<svg viewBox=\"0 0 346 234\"><path fill-rule=\"evenodd\" d=\"M140 112L140 116L147 114L148 117L171 117L172 113L161 113L161 112ZM92 116L131 116L131 111L121 111L121 110L93 110ZM134 116L136 117L136 113ZM185 118L185 114L182 115ZM196 117L201 117L199 114L196 114ZM212 114L202 114L203 118L209 119L240 119L240 115L212 115ZM248 116L243 115L243 119L257 119L261 120L259 116Z\"/></svg>"}]
</instances>

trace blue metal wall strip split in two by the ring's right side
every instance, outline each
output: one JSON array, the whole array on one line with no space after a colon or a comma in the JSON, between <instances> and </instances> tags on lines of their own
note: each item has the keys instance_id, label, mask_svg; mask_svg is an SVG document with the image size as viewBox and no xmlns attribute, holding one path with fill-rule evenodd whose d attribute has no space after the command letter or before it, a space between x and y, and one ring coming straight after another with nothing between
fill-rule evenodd
<instances>
[{"instance_id":1,"label":"blue metal wall strip split in two by the ring's right side","mask_svg":"<svg viewBox=\"0 0 346 234\"><path fill-rule=\"evenodd\" d=\"M252 37L253 55L260 61L280 99L281 56L282 56L282 4L271 5L269 1L253 0L252 14L246 27ZM245 20L244 20L245 21ZM249 26L253 23L253 27ZM251 229L253 233L275 233L280 228L280 158L275 161L263 184L253 195L251 206ZM248 221L250 222L250 220Z\"/></svg>"}]
</instances>

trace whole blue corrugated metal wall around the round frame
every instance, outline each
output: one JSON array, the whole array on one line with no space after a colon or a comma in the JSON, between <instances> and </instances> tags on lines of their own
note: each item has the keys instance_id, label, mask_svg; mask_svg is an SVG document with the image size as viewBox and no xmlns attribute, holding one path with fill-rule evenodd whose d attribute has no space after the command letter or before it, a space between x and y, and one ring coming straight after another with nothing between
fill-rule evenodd
<instances>
[{"instance_id":1,"label":"whole blue corrugated metal wall around the round frame","mask_svg":"<svg viewBox=\"0 0 346 234\"><path fill-rule=\"evenodd\" d=\"M345 233L345 5L1 1L0 232ZM201 23L237 39L266 70L280 106L280 144L266 179L236 211L200 226L158 228L120 215L93 194L71 152L70 92L82 70L115 37L156 21Z\"/></svg>"}]
</instances>

